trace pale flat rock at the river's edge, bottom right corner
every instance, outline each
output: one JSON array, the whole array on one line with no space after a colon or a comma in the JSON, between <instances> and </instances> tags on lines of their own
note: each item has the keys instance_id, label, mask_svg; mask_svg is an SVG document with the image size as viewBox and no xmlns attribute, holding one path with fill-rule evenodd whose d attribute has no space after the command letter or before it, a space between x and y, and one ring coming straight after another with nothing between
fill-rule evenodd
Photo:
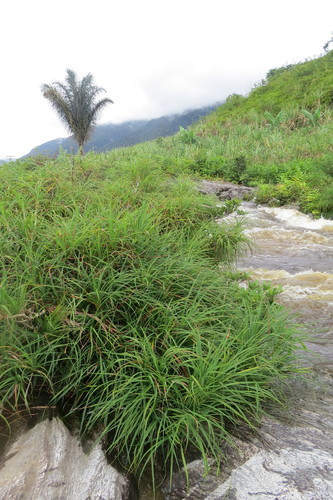
<instances>
[{"instance_id":1,"label":"pale flat rock at the river's edge, bottom right corner","mask_svg":"<svg viewBox=\"0 0 333 500\"><path fill-rule=\"evenodd\" d=\"M166 500L331 500L330 394L313 396L312 408L302 399L301 391L299 396L301 406L290 415L293 425L264 418L256 434L235 439L236 449L224 447L225 460L218 476L214 467L205 475L202 460L191 462L188 484L184 471L175 474L171 488L164 488Z\"/></svg>"}]
</instances>

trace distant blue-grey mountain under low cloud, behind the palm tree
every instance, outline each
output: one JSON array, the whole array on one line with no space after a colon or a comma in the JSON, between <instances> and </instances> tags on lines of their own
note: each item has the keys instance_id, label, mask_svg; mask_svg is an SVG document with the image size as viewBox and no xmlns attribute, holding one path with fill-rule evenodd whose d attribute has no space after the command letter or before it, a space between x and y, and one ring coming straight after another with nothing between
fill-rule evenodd
<instances>
[{"instance_id":1,"label":"distant blue-grey mountain under low cloud, behind the palm tree","mask_svg":"<svg viewBox=\"0 0 333 500\"><path fill-rule=\"evenodd\" d=\"M109 151L114 148L132 146L139 142L151 141L157 137L173 135L178 132L179 127L189 127L203 116L212 113L220 105L221 103L216 103L211 106L185 111L181 114L161 116L153 120L135 120L120 124L98 125L91 139L86 143L85 151ZM54 139L33 148L23 158L36 154L54 157L59 154L61 149L69 153L76 153L77 144L72 137Z\"/></svg>"}]
</instances>

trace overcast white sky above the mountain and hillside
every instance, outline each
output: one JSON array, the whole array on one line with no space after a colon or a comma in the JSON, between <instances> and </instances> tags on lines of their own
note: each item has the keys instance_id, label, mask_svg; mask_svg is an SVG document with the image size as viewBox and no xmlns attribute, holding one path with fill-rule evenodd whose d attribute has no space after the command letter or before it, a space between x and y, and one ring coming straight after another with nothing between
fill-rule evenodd
<instances>
[{"instance_id":1,"label":"overcast white sky above the mountain and hillside","mask_svg":"<svg viewBox=\"0 0 333 500\"><path fill-rule=\"evenodd\" d=\"M67 68L114 101L99 123L120 123L246 94L333 31L332 0L8 0L0 14L0 158L69 135L40 90Z\"/></svg>"}]
</instances>

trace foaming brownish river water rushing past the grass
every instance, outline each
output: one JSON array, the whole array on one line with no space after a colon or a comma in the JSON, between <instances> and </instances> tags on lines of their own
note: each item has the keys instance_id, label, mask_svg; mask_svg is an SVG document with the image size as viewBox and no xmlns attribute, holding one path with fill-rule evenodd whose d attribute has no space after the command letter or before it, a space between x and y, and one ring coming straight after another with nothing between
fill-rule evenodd
<instances>
[{"instance_id":1,"label":"foaming brownish river water rushing past the grass","mask_svg":"<svg viewBox=\"0 0 333 500\"><path fill-rule=\"evenodd\" d=\"M255 247L239 267L283 287L278 300L311 333L307 364L333 374L333 221L287 208L241 208Z\"/></svg>"}]
</instances>

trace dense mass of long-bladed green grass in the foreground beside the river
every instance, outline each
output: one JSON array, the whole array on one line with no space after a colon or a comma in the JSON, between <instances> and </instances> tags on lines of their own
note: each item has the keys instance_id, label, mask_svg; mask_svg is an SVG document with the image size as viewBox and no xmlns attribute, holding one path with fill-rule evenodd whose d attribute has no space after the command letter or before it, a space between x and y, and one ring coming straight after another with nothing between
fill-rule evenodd
<instances>
[{"instance_id":1,"label":"dense mass of long-bladed green grass in the foreground beside the river","mask_svg":"<svg viewBox=\"0 0 333 500\"><path fill-rule=\"evenodd\" d=\"M216 220L237 204L196 190L192 145L161 147L0 170L0 417L55 406L153 477L218 462L281 403L299 346L275 291L230 268L250 242Z\"/></svg>"}]
</instances>

